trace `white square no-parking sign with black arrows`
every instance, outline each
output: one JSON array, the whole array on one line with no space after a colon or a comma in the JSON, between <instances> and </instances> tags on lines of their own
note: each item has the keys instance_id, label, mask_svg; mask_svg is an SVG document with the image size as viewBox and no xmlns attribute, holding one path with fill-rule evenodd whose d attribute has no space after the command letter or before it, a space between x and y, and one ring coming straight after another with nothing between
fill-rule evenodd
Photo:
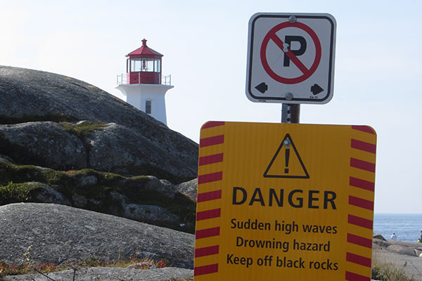
<instances>
[{"instance_id":1,"label":"white square no-parking sign with black arrows","mask_svg":"<svg viewBox=\"0 0 422 281\"><path fill-rule=\"evenodd\" d=\"M246 96L258 103L328 103L333 98L335 26L327 13L252 15Z\"/></svg>"}]
</instances>

